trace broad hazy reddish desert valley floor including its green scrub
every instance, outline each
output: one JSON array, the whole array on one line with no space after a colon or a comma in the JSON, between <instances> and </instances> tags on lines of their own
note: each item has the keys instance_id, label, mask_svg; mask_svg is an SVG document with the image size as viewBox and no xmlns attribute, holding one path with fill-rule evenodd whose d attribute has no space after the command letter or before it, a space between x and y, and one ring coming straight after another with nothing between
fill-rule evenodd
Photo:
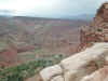
<instances>
[{"instance_id":1,"label":"broad hazy reddish desert valley floor including its green scrub","mask_svg":"<svg viewBox=\"0 0 108 81\"><path fill-rule=\"evenodd\" d=\"M10 68L3 65L0 81L24 81L42 68L59 63L63 56L58 53L65 54L68 48L78 45L79 38L76 37L79 36L79 25L86 23L26 16L3 18L0 18L0 39L4 38L5 41L0 41L0 49L3 50L0 60L9 65L18 62L22 65ZM69 44L72 42L75 45ZM35 50L31 50L32 46Z\"/></svg>"}]
</instances>

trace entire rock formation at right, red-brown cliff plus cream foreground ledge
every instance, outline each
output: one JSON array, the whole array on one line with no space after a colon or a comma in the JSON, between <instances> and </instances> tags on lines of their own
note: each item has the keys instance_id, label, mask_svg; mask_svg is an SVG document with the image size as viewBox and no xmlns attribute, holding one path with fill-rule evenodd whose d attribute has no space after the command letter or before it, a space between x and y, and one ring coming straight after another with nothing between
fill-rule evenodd
<instances>
[{"instance_id":1,"label":"entire rock formation at right, red-brown cliff plus cream foreground ledge","mask_svg":"<svg viewBox=\"0 0 108 81\"><path fill-rule=\"evenodd\" d=\"M40 71L43 81L108 81L108 2L81 28L77 54Z\"/></svg>"}]
</instances>

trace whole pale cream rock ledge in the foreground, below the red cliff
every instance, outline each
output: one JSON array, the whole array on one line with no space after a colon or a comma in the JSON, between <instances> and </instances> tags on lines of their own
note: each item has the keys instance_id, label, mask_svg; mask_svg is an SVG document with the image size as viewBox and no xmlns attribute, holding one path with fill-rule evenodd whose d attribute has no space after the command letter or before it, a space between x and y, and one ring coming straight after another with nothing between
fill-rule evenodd
<instances>
[{"instance_id":1,"label":"whole pale cream rock ledge in the foreground, below the red cliff","mask_svg":"<svg viewBox=\"0 0 108 81\"><path fill-rule=\"evenodd\" d=\"M108 43L96 43L92 48L62 60L58 65L43 69L40 76L43 81L99 81L98 77L97 80L91 78L94 78L95 72L95 76L98 76L99 71L107 70L104 67L107 63ZM103 71L103 73L107 73L107 71Z\"/></svg>"}]
</instances>

